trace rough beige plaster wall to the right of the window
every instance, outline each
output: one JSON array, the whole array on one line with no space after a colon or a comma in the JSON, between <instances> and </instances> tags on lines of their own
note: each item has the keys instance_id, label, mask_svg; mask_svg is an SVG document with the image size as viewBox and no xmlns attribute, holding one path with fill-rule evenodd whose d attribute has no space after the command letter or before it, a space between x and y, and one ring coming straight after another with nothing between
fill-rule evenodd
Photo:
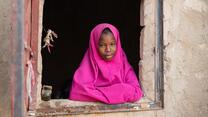
<instances>
[{"instance_id":1,"label":"rough beige plaster wall to the right of the window","mask_svg":"<svg viewBox=\"0 0 208 117\"><path fill-rule=\"evenodd\" d=\"M208 115L207 18L207 0L164 1L164 116Z\"/></svg>"}]
</instances>

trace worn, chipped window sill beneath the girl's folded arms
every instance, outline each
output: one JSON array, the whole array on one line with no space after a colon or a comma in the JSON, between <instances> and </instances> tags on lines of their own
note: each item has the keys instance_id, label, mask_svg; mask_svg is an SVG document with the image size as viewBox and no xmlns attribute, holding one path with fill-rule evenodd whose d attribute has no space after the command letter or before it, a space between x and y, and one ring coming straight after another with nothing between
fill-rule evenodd
<instances>
[{"instance_id":1,"label":"worn, chipped window sill beneath the girl's folded arms","mask_svg":"<svg viewBox=\"0 0 208 117\"><path fill-rule=\"evenodd\" d=\"M29 111L29 116L74 115L106 112L133 112L162 109L161 102L142 98L138 102L108 105L99 102L80 102L68 99L52 99L41 101L35 112Z\"/></svg>"}]
</instances>

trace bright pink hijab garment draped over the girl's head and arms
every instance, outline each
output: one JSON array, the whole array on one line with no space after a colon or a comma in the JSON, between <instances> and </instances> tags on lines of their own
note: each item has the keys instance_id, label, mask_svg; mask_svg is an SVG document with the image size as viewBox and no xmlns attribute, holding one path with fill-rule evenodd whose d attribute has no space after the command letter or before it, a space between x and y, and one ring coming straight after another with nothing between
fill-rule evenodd
<instances>
[{"instance_id":1,"label":"bright pink hijab garment draped over the girl's head and arms","mask_svg":"<svg viewBox=\"0 0 208 117\"><path fill-rule=\"evenodd\" d=\"M117 50L111 61L103 60L97 51L105 28L109 28L116 39ZM135 102L142 95L137 77L121 48L118 30L107 23L97 25L91 31L89 49L74 74L69 99L120 104Z\"/></svg>"}]
</instances>

